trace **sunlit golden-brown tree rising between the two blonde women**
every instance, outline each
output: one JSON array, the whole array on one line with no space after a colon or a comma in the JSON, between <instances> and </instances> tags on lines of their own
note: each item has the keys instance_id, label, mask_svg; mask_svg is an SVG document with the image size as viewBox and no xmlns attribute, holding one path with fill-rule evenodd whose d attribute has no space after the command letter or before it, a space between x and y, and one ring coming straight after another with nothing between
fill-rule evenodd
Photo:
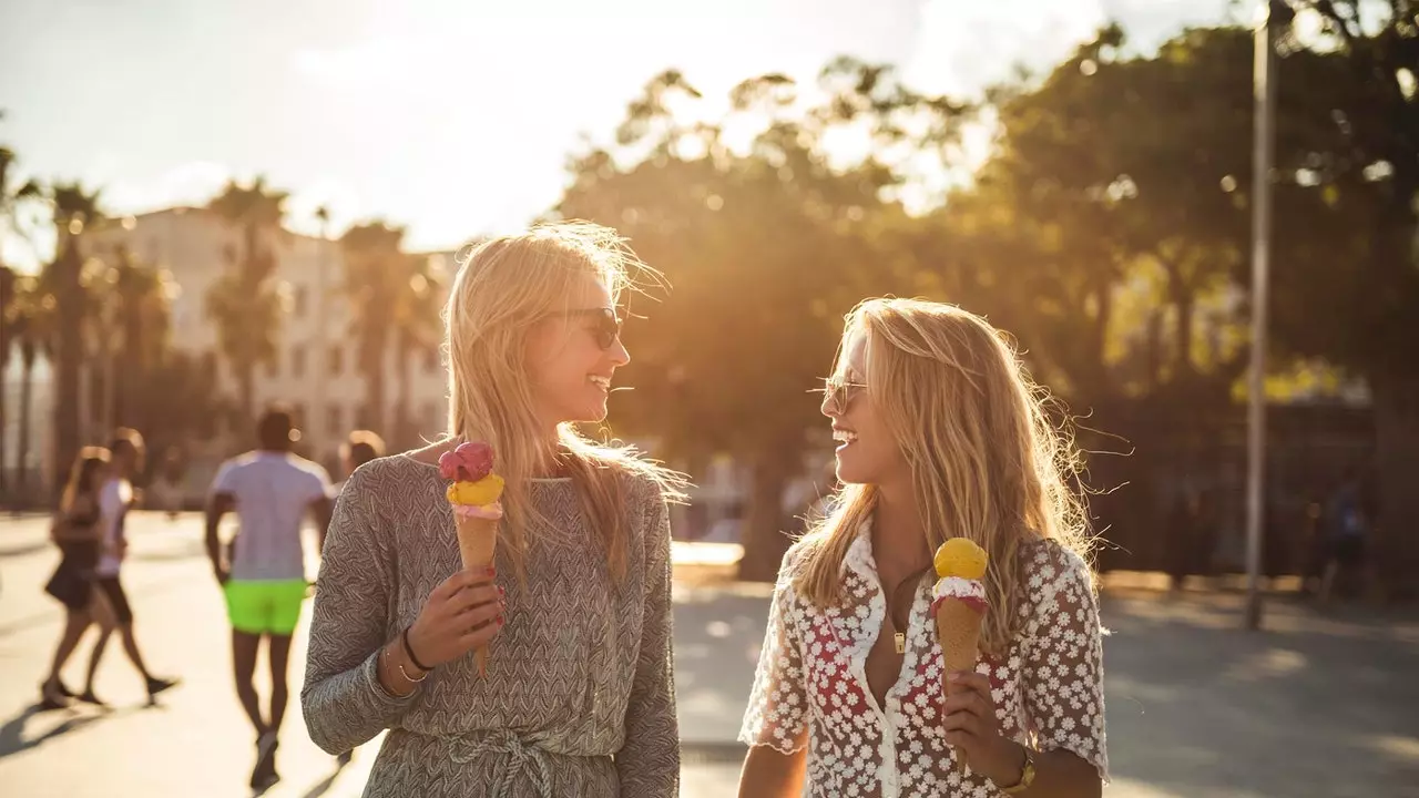
<instances>
[{"instance_id":1,"label":"sunlit golden-brown tree rising between the two blonde women","mask_svg":"<svg viewBox=\"0 0 1419 798\"><path fill-rule=\"evenodd\" d=\"M674 285L661 305L636 311L654 314L656 331L627 331L636 390L616 417L688 463L722 450L752 469L744 578L772 578L788 545L785 486L803 473L809 432L824 426L809 390L832 368L841 314L902 285L870 270L884 256L873 230L900 213L884 199L897 175L873 156L830 165L822 136L858 124L900 141L900 114L946 112L884 67L837 62L823 80L830 102L806 114L782 75L736 87L734 114L759 129L736 151L722 125L671 112L700 94L664 72L630 104L614 148L570 162L556 207L617 227Z\"/></svg>"}]
</instances>

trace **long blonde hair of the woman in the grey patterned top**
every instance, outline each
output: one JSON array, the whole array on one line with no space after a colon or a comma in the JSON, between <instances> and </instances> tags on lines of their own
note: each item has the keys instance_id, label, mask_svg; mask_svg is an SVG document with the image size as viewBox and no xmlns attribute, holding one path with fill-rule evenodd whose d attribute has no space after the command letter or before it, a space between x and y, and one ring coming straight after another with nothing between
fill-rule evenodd
<instances>
[{"instance_id":1,"label":"long blonde hair of the woman in the grey patterned top","mask_svg":"<svg viewBox=\"0 0 1419 798\"><path fill-rule=\"evenodd\" d=\"M526 530L539 521L528 497L536 474L561 463L575 480L583 511L619 585L627 558L627 476L654 483L670 501L684 498L685 480L629 446L597 444L575 425L558 426L549 450L536 417L524 342L532 327L568 310L586 278L600 281L613 302L660 275L636 257L614 230L586 222L549 223L478 244L454 278L444 308L448 351L448 432L487 440L507 480L499 547L524 571Z\"/></svg>"}]
</instances>

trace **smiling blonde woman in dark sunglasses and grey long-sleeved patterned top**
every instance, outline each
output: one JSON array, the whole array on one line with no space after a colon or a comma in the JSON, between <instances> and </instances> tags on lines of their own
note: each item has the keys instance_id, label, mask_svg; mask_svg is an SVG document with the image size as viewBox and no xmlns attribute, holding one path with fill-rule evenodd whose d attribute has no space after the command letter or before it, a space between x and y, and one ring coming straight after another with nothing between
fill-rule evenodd
<instances>
[{"instance_id":1,"label":"smiling blonde woman in dark sunglasses and grey long-sleeved patterned top","mask_svg":"<svg viewBox=\"0 0 1419 798\"><path fill-rule=\"evenodd\" d=\"M448 305L450 437L373 460L335 507L301 699L331 754L390 733L368 797L668 797L680 754L667 501L681 480L573 422L630 361L616 308L646 267L592 224L477 247ZM507 479L495 568L461 567L438 456ZM488 673L470 650L491 643Z\"/></svg>"}]
</instances>

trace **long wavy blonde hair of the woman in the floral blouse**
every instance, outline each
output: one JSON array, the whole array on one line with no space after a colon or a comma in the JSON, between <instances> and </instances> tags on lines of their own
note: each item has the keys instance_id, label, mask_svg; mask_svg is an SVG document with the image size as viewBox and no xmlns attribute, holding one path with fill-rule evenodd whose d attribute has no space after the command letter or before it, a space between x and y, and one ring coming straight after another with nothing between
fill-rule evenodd
<instances>
[{"instance_id":1,"label":"long wavy blonde hair of the woman in the floral blouse","mask_svg":"<svg viewBox=\"0 0 1419 798\"><path fill-rule=\"evenodd\" d=\"M1067 427L1046 413L1013 345L983 318L920 300L867 300L847 315L847 341L867 337L867 393L911 471L927 544L965 537L989 554L990 609L982 647L1000 655L1020 632L1020 545L1053 538L1091 562L1088 517L1070 479L1080 470ZM803 541L795 586L810 602L841 601L841 567L877 488L847 486Z\"/></svg>"}]
</instances>

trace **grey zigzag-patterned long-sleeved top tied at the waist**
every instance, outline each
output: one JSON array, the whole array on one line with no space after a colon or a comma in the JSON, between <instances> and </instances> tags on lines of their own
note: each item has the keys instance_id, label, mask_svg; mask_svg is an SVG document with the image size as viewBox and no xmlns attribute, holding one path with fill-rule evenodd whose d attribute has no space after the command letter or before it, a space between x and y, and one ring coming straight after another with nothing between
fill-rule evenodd
<instances>
[{"instance_id":1,"label":"grey zigzag-patterned long-sleeved top tied at the waist","mask_svg":"<svg viewBox=\"0 0 1419 798\"><path fill-rule=\"evenodd\" d=\"M677 795L670 521L647 480L627 486L619 591L573 483L536 481L531 500L546 523L529 530L525 586L498 557L508 611L488 676L470 653L407 699L380 687L377 650L460 568L446 486L436 467L394 456L342 491L301 692L311 737L335 754L392 730L365 788L372 798Z\"/></svg>"}]
</instances>

